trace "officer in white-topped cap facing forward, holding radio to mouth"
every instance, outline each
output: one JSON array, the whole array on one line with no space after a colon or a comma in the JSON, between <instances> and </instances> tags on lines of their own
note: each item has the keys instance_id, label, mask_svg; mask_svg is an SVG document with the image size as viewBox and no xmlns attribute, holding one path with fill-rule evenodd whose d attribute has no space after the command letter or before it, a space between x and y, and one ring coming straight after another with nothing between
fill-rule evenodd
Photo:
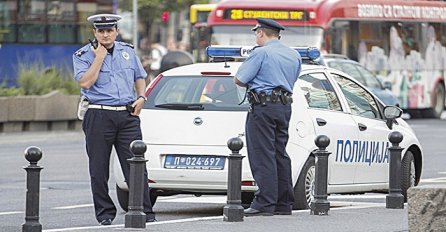
<instances>
[{"instance_id":1,"label":"officer in white-topped cap facing forward, holding radio to mouth","mask_svg":"<svg viewBox=\"0 0 446 232\"><path fill-rule=\"evenodd\" d=\"M127 159L133 156L130 143L142 139L138 115L146 101L147 73L133 46L115 41L120 19L121 16L113 14L88 17L94 26L95 41L73 55L74 78L82 88L82 95L89 101L82 128L96 219L101 225L110 225L116 216L107 184L112 147L129 183ZM147 180L147 170L144 177ZM147 182L144 183L144 212L146 221L155 221Z\"/></svg>"}]
</instances>

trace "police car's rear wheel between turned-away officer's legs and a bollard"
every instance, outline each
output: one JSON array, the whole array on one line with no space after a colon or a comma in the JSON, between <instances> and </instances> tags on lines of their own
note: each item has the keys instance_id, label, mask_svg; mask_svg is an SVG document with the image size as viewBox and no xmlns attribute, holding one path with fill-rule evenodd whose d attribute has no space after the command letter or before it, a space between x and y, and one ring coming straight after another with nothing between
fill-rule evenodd
<instances>
[{"instance_id":1,"label":"police car's rear wheel between turned-away officer's legs and a bollard","mask_svg":"<svg viewBox=\"0 0 446 232\"><path fill-rule=\"evenodd\" d=\"M294 186L293 209L309 209L314 199L314 180L316 178L314 157L308 157Z\"/></svg>"}]
</instances>

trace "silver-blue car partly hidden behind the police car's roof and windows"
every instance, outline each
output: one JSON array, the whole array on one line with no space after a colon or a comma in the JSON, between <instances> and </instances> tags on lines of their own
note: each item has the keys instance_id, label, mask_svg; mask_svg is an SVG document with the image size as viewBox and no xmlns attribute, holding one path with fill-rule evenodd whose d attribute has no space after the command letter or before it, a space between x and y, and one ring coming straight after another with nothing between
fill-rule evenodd
<instances>
[{"instance_id":1,"label":"silver-blue car partly hidden behind the police car's roof and windows","mask_svg":"<svg viewBox=\"0 0 446 232\"><path fill-rule=\"evenodd\" d=\"M321 59L322 64L341 70L369 88L384 104L399 106L398 98L392 93L390 83L383 84L381 80L364 66L348 57L337 54L327 54Z\"/></svg>"}]
</instances>

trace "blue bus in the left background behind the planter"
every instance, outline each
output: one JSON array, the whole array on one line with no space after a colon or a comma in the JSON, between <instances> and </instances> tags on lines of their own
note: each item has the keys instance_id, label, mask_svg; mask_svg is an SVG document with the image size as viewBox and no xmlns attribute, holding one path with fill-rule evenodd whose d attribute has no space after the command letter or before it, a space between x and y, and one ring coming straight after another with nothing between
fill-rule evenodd
<instances>
[{"instance_id":1,"label":"blue bus in the left background behind the planter","mask_svg":"<svg viewBox=\"0 0 446 232\"><path fill-rule=\"evenodd\" d=\"M0 1L0 86L17 86L21 68L72 73L72 55L93 39L87 17L113 12L114 0Z\"/></svg>"}]
</instances>

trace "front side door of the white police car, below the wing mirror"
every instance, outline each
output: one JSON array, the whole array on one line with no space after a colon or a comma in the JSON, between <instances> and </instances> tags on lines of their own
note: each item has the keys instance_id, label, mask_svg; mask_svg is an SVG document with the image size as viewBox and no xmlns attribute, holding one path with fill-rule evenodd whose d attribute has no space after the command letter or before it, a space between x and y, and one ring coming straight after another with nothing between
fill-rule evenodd
<instances>
[{"instance_id":1,"label":"front side door of the white police car, below the wing mirror","mask_svg":"<svg viewBox=\"0 0 446 232\"><path fill-rule=\"evenodd\" d=\"M331 76L344 93L359 129L358 149L350 156L352 162L357 163L355 184L387 182L390 130L382 119L378 107L380 103L369 91L352 80L334 73Z\"/></svg>"}]
</instances>

